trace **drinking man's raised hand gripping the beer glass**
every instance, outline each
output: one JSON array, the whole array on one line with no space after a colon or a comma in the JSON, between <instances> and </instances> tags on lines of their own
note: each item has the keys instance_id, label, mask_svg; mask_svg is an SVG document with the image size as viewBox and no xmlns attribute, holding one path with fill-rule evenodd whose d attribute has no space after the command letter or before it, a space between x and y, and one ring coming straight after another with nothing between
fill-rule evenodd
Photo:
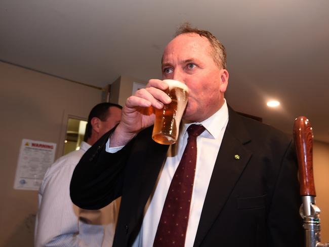
<instances>
[{"instance_id":1,"label":"drinking man's raised hand gripping the beer glass","mask_svg":"<svg viewBox=\"0 0 329 247\"><path fill-rule=\"evenodd\" d=\"M110 138L110 147L126 145L141 130L153 125L154 108L162 109L171 98L163 92L168 85L162 80L150 79L146 89L140 89L130 96L122 108L121 121Z\"/></svg>"}]
</instances>

